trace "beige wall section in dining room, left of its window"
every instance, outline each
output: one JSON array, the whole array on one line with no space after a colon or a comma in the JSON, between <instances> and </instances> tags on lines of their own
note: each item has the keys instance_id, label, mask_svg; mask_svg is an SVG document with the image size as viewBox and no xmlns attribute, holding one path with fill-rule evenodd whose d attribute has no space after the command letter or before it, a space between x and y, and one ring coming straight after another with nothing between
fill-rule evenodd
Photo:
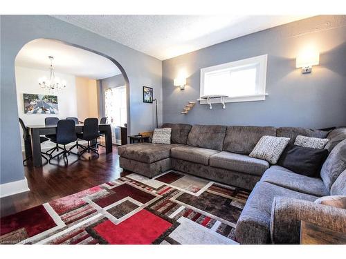
<instances>
[{"instance_id":1,"label":"beige wall section in dining room, left of its window","mask_svg":"<svg viewBox=\"0 0 346 259\"><path fill-rule=\"evenodd\" d=\"M96 80L75 77L78 119L98 118L98 94Z\"/></svg>"}]
</instances>

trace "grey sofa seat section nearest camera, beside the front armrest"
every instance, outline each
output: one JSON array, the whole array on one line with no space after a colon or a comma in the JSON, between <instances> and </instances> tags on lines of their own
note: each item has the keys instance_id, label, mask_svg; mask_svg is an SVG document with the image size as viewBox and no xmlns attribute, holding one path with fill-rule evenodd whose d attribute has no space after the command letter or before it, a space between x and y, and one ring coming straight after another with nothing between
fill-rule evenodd
<instances>
[{"instance_id":1,"label":"grey sofa seat section nearest camera, beside the front armrest","mask_svg":"<svg viewBox=\"0 0 346 259\"><path fill-rule=\"evenodd\" d=\"M237 222L235 236L241 244L270 242L271 206L275 197L315 201L318 197L285 189L268 182L257 182Z\"/></svg>"}]
</instances>

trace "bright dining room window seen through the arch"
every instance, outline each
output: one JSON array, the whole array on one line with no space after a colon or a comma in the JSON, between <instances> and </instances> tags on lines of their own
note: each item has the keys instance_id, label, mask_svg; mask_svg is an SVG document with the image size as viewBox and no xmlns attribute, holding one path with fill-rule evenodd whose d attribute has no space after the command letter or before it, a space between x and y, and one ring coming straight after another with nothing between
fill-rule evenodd
<instances>
[{"instance_id":1,"label":"bright dining room window seen through the arch","mask_svg":"<svg viewBox=\"0 0 346 259\"><path fill-rule=\"evenodd\" d=\"M104 94L105 115L111 126L124 126L127 122L126 88L108 88Z\"/></svg>"}]
</instances>

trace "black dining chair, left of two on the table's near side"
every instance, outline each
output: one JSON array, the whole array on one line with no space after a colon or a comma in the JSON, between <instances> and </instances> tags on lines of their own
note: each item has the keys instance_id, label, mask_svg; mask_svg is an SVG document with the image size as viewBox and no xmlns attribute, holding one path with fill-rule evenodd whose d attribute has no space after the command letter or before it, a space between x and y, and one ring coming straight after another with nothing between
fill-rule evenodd
<instances>
[{"instance_id":1,"label":"black dining chair, left of two on the table's near side","mask_svg":"<svg viewBox=\"0 0 346 259\"><path fill-rule=\"evenodd\" d=\"M51 139L52 142L56 143L57 145L63 145L62 152L57 153L51 159L49 162L51 162L52 159L55 157L59 158L60 155L62 155L64 162L66 159L66 164L69 164L69 160L67 159L67 155L70 155L71 149L67 150L66 145L70 144L71 142L75 142L77 140L77 135L75 134L75 122L73 122L72 119L60 119L59 122L57 122L57 135L56 137L53 137ZM73 153L74 155L77 155Z\"/></svg>"}]
</instances>

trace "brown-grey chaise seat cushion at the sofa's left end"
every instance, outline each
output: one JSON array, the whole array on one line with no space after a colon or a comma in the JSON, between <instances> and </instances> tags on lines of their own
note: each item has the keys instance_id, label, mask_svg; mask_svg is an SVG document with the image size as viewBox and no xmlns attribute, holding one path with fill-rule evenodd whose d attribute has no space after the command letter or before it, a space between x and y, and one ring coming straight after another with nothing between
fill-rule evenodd
<instances>
[{"instance_id":1,"label":"brown-grey chaise seat cushion at the sofa's left end","mask_svg":"<svg viewBox=\"0 0 346 259\"><path fill-rule=\"evenodd\" d=\"M136 143L118 147L118 154L130 160L153 163L170 157L170 150L179 144Z\"/></svg>"}]
</instances>

